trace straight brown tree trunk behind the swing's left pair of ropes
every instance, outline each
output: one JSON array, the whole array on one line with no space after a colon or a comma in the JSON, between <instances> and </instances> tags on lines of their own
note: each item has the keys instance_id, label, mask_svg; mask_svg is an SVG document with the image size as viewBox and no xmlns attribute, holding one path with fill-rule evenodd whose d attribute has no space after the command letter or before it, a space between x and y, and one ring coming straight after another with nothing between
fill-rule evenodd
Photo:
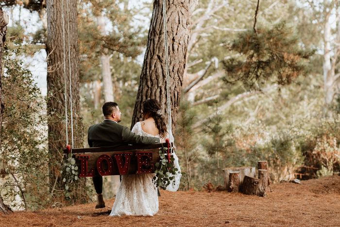
<instances>
[{"instance_id":1,"label":"straight brown tree trunk behind the swing's left pair of ropes","mask_svg":"<svg viewBox=\"0 0 340 227\"><path fill-rule=\"evenodd\" d=\"M64 2L64 31L63 11ZM68 11L67 11L68 9ZM59 177L60 161L63 149L66 147L65 108L68 109L68 143L71 144L70 106L73 110L74 147L83 146L83 124L80 116L79 73L78 73L78 35L77 35L77 1L76 0L48 0L48 38L47 38L47 108L49 127L49 152L51 153L50 185L53 189L62 190L62 178ZM69 28L68 28L69 26ZM68 34L69 31L69 34ZM64 80L64 41L65 40L65 67ZM68 42L69 40L69 42ZM68 57L68 46L70 58ZM71 81L69 81L71 74ZM70 103L70 89L72 86L72 103ZM65 86L67 88L67 102L65 100ZM85 181L84 181L85 182ZM54 186L55 185L55 186ZM81 190L81 189L80 189ZM84 187L85 190L85 187Z\"/></svg>"}]
</instances>

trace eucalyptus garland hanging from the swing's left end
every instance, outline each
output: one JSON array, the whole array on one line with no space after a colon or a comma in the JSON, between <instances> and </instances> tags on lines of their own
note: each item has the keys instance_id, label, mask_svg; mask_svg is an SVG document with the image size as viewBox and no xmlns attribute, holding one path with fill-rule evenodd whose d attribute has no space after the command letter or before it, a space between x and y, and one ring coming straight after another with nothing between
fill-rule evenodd
<instances>
[{"instance_id":1,"label":"eucalyptus garland hanging from the swing's left end","mask_svg":"<svg viewBox=\"0 0 340 227\"><path fill-rule=\"evenodd\" d=\"M63 176L65 197L70 199L72 194L70 185L79 179L78 166L76 165L76 159L72 157L72 153L68 153L67 157L64 158L61 169L60 174Z\"/></svg>"}]
</instances>

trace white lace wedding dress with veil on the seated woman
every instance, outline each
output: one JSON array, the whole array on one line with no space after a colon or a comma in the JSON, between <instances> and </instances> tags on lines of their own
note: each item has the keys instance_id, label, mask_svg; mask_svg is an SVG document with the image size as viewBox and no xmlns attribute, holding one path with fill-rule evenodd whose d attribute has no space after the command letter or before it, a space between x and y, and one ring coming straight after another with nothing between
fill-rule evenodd
<instances>
[{"instance_id":1,"label":"white lace wedding dress with veil on the seated woman","mask_svg":"<svg viewBox=\"0 0 340 227\"><path fill-rule=\"evenodd\" d=\"M132 132L141 136L160 138L159 135L153 136L144 132L140 122L135 124ZM160 139L161 142L165 142L165 138ZM170 141L173 141L173 136L171 135L169 139ZM173 157L175 158L174 166L178 169L178 174L175 175L175 184L172 184L171 182L171 184L167 187L167 190L174 192L178 190L182 174L178 164L178 157L175 153L173 153ZM153 216L157 213L157 188L152 181L154 175L155 174L123 175L110 216Z\"/></svg>"}]
</instances>

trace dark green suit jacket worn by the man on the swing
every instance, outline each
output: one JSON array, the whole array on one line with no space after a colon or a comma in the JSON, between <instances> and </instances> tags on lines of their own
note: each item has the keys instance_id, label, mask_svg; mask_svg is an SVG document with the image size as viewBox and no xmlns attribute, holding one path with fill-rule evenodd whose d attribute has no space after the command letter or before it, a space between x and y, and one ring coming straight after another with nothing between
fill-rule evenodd
<instances>
[{"instance_id":1,"label":"dark green suit jacket worn by the man on the swing","mask_svg":"<svg viewBox=\"0 0 340 227\"><path fill-rule=\"evenodd\" d=\"M105 119L88 128L87 142L90 147L116 147L136 143L160 143L160 139L136 135L127 127Z\"/></svg>"}]
</instances>

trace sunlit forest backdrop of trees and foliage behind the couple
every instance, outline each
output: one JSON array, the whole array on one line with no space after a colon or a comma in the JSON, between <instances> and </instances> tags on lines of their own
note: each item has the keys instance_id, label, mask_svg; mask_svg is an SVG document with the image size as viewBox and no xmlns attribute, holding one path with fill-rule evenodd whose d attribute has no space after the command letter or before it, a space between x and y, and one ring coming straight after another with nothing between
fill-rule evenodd
<instances>
[{"instance_id":1,"label":"sunlit forest backdrop of trees and foliage behind the couple","mask_svg":"<svg viewBox=\"0 0 340 227\"><path fill-rule=\"evenodd\" d=\"M152 3L77 1L84 140L76 140L85 147L87 128L102 121L107 100L119 104L121 124L131 125ZM61 159L51 157L48 145L54 120L45 82L53 70L46 61L46 3L0 6L10 17L2 56L0 195L17 210L91 201L90 179L70 201L49 183L48 162ZM273 182L339 174L340 5L260 1L255 26L256 6L255 0L200 0L192 12L174 131L180 190L223 185L223 168L258 160L269 161ZM105 178L107 198L114 196L113 181Z\"/></svg>"}]
</instances>

